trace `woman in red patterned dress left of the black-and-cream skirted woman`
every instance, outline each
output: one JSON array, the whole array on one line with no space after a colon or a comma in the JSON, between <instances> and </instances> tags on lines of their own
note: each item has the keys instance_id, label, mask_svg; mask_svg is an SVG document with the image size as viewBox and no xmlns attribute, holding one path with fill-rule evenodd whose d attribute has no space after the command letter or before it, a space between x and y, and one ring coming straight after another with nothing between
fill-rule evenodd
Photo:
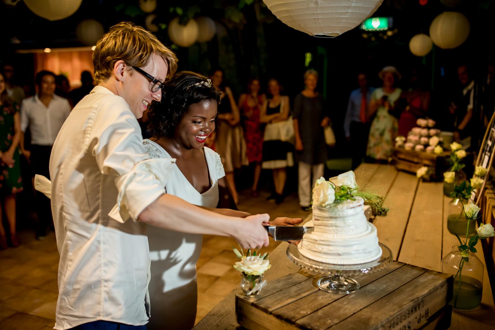
<instances>
[{"instance_id":1,"label":"woman in red patterned dress left of the black-and-cream skirted woman","mask_svg":"<svg viewBox=\"0 0 495 330\"><path fill-rule=\"evenodd\" d=\"M263 131L259 121L260 107L266 100L264 94L259 94L259 80L250 79L247 84L247 93L239 98L244 126L244 139L246 141L246 154L249 163L254 164L254 177L251 187L251 197L258 197L258 181L261 173L261 160L263 157Z\"/></svg>"}]
</instances>

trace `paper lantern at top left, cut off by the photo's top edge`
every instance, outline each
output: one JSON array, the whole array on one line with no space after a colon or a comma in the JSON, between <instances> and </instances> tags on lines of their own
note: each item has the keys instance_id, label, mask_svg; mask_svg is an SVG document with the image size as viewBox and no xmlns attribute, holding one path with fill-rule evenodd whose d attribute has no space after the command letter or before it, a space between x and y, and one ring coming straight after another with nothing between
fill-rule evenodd
<instances>
[{"instance_id":1,"label":"paper lantern at top left, cut off by the photo's top edge","mask_svg":"<svg viewBox=\"0 0 495 330\"><path fill-rule=\"evenodd\" d=\"M49 21L64 19L76 12L82 0L24 0L28 8Z\"/></svg>"}]
</instances>

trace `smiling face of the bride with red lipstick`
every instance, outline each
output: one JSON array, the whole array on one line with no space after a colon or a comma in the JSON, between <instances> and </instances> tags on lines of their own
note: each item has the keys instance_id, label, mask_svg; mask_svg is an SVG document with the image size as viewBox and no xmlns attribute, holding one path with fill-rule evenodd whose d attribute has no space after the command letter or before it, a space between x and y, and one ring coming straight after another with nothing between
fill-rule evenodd
<instances>
[{"instance_id":1,"label":"smiling face of the bride with red lipstick","mask_svg":"<svg viewBox=\"0 0 495 330\"><path fill-rule=\"evenodd\" d=\"M199 149L215 130L217 102L203 100L192 104L175 129L175 138L186 149Z\"/></svg>"}]
</instances>

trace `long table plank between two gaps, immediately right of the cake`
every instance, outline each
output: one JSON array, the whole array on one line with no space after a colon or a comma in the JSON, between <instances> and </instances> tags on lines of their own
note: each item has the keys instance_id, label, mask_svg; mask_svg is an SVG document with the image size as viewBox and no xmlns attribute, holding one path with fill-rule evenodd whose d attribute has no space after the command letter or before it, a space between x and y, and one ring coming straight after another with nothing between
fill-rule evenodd
<instances>
[{"instance_id":1,"label":"long table plank between two gaps, immediately right of the cake","mask_svg":"<svg viewBox=\"0 0 495 330\"><path fill-rule=\"evenodd\" d=\"M390 208L389 214L386 217L376 217L373 221L378 239L390 248L395 260L402 244L417 185L416 176L398 172L384 203Z\"/></svg>"}]
</instances>

